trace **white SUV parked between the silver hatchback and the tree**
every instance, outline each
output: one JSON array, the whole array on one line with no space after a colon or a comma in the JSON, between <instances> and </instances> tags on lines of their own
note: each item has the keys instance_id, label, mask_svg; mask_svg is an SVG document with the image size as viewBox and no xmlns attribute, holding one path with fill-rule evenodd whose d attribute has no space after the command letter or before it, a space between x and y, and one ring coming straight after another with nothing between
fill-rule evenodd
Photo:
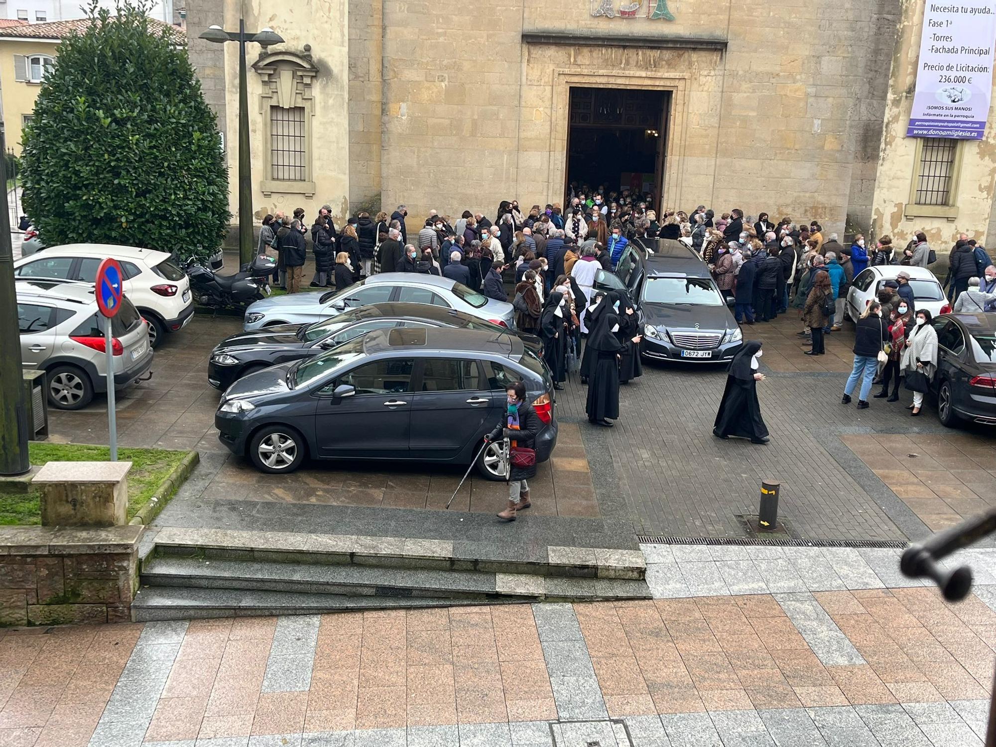
<instances>
[{"instance_id":1,"label":"white SUV parked between the silver hatchback and the tree","mask_svg":"<svg viewBox=\"0 0 996 747\"><path fill-rule=\"evenodd\" d=\"M167 332L176 332L193 318L190 279L165 252L116 244L65 244L22 257L14 263L19 280L94 283L107 257L124 272L124 293L148 323L148 342L155 348Z\"/></svg>"}]
</instances>

